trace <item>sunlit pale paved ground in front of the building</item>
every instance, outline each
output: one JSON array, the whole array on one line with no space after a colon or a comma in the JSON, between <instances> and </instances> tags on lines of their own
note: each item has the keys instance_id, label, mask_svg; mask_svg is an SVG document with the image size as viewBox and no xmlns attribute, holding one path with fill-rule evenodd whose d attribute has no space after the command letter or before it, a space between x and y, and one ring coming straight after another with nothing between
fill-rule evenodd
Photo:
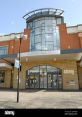
<instances>
[{"instance_id":1,"label":"sunlit pale paved ground in front of the building","mask_svg":"<svg viewBox=\"0 0 82 117\"><path fill-rule=\"evenodd\" d=\"M20 91L20 101L16 102L16 91L0 90L0 108L81 108L82 109L82 92L57 92L46 90L27 90Z\"/></svg>"}]
</instances>

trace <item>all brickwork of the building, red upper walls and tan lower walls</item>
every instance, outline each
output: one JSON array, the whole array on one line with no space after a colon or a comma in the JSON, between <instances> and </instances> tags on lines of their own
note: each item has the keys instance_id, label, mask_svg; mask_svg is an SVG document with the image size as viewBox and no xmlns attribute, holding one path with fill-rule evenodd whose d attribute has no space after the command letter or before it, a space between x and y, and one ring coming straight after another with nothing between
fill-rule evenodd
<instances>
[{"instance_id":1,"label":"all brickwork of the building, red upper walls and tan lower walls","mask_svg":"<svg viewBox=\"0 0 82 117\"><path fill-rule=\"evenodd\" d=\"M66 24L59 25L60 30L60 49L80 49L82 48L82 37L78 36L78 33L68 34ZM0 46L8 46L8 54L15 54L19 52L20 42L19 39L13 39L9 41L0 42ZM30 30L24 29L24 36L21 41L21 52L29 52L30 49ZM2 62L2 61L1 61ZM63 90L78 90L82 88L82 68L77 67L76 60L60 60L60 61L36 61L36 62L22 62L22 71L20 72L20 89L25 89L26 81L26 70L31 67L38 65L51 65L62 69L62 79L63 79ZM74 70L74 74L64 73L64 70ZM11 87L11 70L6 70L5 77L5 88ZM18 71L14 68L13 71L13 88L17 88L17 75ZM79 80L78 80L79 79ZM74 81L75 85L71 85L70 82Z\"/></svg>"}]
</instances>

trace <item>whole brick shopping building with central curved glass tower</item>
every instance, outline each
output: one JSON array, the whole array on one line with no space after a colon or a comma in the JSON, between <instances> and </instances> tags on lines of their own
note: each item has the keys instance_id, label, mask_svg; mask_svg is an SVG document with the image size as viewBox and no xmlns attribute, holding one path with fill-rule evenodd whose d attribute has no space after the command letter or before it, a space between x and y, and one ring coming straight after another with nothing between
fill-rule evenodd
<instances>
[{"instance_id":1,"label":"whole brick shopping building with central curved glass tower","mask_svg":"<svg viewBox=\"0 0 82 117\"><path fill-rule=\"evenodd\" d=\"M63 10L53 8L23 18L23 32L0 36L0 88L17 88L20 52L20 89L81 89L82 25L67 27Z\"/></svg>"}]
</instances>

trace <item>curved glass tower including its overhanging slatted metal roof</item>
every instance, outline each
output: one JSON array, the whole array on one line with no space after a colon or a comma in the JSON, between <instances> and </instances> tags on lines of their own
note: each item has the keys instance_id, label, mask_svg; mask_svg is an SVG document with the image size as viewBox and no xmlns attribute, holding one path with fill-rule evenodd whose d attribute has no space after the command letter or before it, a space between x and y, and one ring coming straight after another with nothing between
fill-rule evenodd
<instances>
[{"instance_id":1,"label":"curved glass tower including its overhanging slatted metal roof","mask_svg":"<svg viewBox=\"0 0 82 117\"><path fill-rule=\"evenodd\" d=\"M31 29L30 51L60 50L58 25L64 22L62 13L60 9L44 8L24 16Z\"/></svg>"}]
</instances>

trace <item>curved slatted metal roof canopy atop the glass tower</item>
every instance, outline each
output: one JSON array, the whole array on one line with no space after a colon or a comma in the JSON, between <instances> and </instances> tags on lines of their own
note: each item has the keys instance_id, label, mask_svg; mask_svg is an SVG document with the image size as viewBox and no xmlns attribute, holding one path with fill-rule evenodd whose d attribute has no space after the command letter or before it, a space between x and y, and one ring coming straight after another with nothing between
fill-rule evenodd
<instances>
[{"instance_id":1,"label":"curved slatted metal roof canopy atop the glass tower","mask_svg":"<svg viewBox=\"0 0 82 117\"><path fill-rule=\"evenodd\" d=\"M31 12L28 12L23 16L23 18L29 22L32 19L36 19L38 17L42 16L61 16L63 14L63 10L60 9L54 9L54 8L43 8L43 9L37 9Z\"/></svg>"}]
</instances>

